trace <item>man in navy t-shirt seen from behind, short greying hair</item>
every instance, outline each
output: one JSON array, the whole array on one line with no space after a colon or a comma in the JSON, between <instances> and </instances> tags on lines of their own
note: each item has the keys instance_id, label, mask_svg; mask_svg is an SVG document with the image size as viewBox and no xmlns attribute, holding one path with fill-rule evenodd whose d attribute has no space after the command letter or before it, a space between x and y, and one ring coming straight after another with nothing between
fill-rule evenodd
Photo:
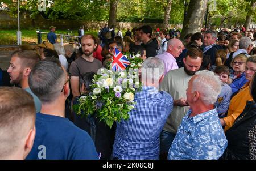
<instances>
[{"instance_id":1,"label":"man in navy t-shirt seen from behind, short greying hair","mask_svg":"<svg viewBox=\"0 0 256 171\"><path fill-rule=\"evenodd\" d=\"M88 133L64 118L69 79L58 61L40 61L31 71L28 83L42 109L36 113L36 137L27 159L98 159Z\"/></svg>"}]
</instances>

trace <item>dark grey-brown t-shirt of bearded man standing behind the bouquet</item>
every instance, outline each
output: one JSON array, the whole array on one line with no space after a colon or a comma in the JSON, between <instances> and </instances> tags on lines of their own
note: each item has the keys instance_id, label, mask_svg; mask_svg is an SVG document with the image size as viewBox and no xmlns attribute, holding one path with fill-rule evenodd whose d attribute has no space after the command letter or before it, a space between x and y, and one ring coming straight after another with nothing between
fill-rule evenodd
<instances>
[{"instance_id":1,"label":"dark grey-brown t-shirt of bearded man standing behind the bouquet","mask_svg":"<svg viewBox=\"0 0 256 171\"><path fill-rule=\"evenodd\" d=\"M86 72L97 73L98 69L102 68L102 63L94 58L93 62L86 61L84 58L79 57L71 63L69 73L72 76L81 76Z\"/></svg>"}]
</instances>

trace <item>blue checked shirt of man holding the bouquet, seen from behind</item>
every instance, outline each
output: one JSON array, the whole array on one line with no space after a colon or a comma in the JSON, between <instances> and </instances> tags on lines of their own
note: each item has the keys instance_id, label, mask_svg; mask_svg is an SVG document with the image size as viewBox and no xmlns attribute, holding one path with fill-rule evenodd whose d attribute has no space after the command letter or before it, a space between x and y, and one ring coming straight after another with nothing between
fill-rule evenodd
<instances>
[{"instance_id":1,"label":"blue checked shirt of man holding the bouquet, seen from behind","mask_svg":"<svg viewBox=\"0 0 256 171\"><path fill-rule=\"evenodd\" d=\"M160 132L172 111L173 99L155 87L142 87L129 119L117 122L113 157L118 159L159 159Z\"/></svg>"}]
</instances>

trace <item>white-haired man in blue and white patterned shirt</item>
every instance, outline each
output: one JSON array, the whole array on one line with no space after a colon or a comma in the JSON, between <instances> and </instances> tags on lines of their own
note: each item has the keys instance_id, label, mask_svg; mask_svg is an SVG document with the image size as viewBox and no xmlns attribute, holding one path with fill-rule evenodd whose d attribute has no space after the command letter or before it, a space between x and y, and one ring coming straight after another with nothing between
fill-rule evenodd
<instances>
[{"instance_id":1,"label":"white-haired man in blue and white patterned shirt","mask_svg":"<svg viewBox=\"0 0 256 171\"><path fill-rule=\"evenodd\" d=\"M191 109L183 117L168 159L218 159L228 144L214 107L221 81L210 71L198 71L188 82Z\"/></svg>"}]
</instances>

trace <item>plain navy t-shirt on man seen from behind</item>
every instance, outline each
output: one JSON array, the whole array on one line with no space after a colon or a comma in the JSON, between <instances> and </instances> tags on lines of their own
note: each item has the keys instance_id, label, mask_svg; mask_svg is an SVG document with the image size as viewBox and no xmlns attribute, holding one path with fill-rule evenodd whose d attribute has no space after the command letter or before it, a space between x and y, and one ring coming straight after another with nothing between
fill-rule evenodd
<instances>
[{"instance_id":1,"label":"plain navy t-shirt on man seen from behind","mask_svg":"<svg viewBox=\"0 0 256 171\"><path fill-rule=\"evenodd\" d=\"M98 159L92 138L67 118L36 114L36 136L26 159Z\"/></svg>"}]
</instances>

